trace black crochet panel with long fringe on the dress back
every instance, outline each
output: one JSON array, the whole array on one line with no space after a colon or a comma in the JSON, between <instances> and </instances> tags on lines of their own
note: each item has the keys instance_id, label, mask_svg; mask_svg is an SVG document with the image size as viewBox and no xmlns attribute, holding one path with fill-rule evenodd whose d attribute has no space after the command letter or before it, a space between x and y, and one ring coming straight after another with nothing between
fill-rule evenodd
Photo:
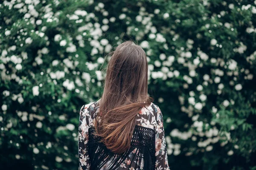
<instances>
[{"instance_id":1,"label":"black crochet panel with long fringe on the dress back","mask_svg":"<svg viewBox=\"0 0 256 170\"><path fill-rule=\"evenodd\" d=\"M112 153L111 150L99 143L99 136L93 135L95 128L89 128L90 169L92 170L122 170L131 167L135 170L154 170L155 165L155 131L148 127L135 125L131 147L125 153ZM126 161L126 164L122 163ZM129 161L127 163L127 161ZM122 168L122 166L124 166ZM127 167L129 166L129 167Z\"/></svg>"}]
</instances>

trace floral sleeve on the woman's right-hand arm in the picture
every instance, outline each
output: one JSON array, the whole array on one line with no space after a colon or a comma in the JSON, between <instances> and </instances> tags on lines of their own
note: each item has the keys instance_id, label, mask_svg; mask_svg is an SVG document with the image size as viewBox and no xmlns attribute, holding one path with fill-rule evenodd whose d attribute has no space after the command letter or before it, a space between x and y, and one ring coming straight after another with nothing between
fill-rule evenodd
<instances>
[{"instance_id":1,"label":"floral sleeve on the woman's right-hand arm in the picture","mask_svg":"<svg viewBox=\"0 0 256 170\"><path fill-rule=\"evenodd\" d=\"M155 142L155 170L170 170L167 157L166 139L163 128L163 114L157 106L157 127Z\"/></svg>"}]
</instances>

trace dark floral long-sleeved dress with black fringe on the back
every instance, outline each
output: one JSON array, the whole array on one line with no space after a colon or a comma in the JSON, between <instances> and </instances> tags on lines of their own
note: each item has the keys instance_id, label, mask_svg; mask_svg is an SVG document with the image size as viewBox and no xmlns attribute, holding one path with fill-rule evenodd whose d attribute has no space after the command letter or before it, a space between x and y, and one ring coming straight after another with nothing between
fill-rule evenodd
<instances>
[{"instance_id":1,"label":"dark floral long-sleeved dress with black fringe on the back","mask_svg":"<svg viewBox=\"0 0 256 170\"><path fill-rule=\"evenodd\" d=\"M97 102L83 105L79 112L79 170L170 170L163 115L157 105L151 103L137 114L131 147L118 154L92 134L99 113Z\"/></svg>"}]
</instances>

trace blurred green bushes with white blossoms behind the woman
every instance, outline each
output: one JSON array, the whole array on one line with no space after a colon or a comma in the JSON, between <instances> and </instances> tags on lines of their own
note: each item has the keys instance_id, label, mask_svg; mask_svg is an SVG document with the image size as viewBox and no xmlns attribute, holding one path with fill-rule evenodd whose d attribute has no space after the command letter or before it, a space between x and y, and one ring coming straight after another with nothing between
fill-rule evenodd
<instances>
[{"instance_id":1,"label":"blurred green bushes with white blossoms behind the woman","mask_svg":"<svg viewBox=\"0 0 256 170\"><path fill-rule=\"evenodd\" d=\"M82 105L117 45L148 57L171 170L256 170L256 1L4 0L1 170L77 170Z\"/></svg>"}]
</instances>

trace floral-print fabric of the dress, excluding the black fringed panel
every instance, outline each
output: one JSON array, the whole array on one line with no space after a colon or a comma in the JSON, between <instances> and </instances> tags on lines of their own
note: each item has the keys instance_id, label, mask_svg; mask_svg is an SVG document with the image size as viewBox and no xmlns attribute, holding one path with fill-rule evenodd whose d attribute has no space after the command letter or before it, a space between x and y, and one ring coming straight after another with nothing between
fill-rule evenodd
<instances>
[{"instance_id":1,"label":"floral-print fabric of the dress, excluding the black fringed panel","mask_svg":"<svg viewBox=\"0 0 256 170\"><path fill-rule=\"evenodd\" d=\"M97 102L99 102L99 100ZM100 112L99 106L96 107L97 102L83 105L79 112L79 170L90 170L88 129L94 127L96 116ZM155 130L155 170L170 170L163 127L163 114L160 111L160 108L154 103L151 103L151 105L147 107L143 107L137 114L136 125ZM139 170L139 168L134 168L137 167L136 165L138 165L138 161L133 161L137 160L135 157L137 157L138 154L139 152L137 148L135 148L125 161L120 164L118 170ZM143 158L140 161L143 161ZM106 163L106 166L108 163ZM143 165L143 163L141 165ZM140 167L140 169L143 169L143 167Z\"/></svg>"}]
</instances>

